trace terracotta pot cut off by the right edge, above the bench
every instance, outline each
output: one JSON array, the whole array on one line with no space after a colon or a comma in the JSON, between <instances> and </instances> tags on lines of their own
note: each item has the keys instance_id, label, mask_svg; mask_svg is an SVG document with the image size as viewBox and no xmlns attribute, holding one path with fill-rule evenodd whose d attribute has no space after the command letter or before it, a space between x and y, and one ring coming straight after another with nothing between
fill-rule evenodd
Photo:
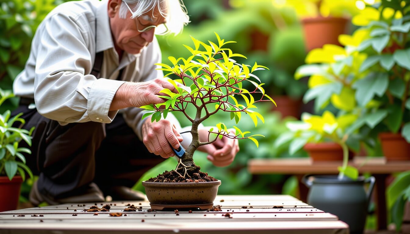
<instances>
[{"instance_id":1,"label":"terracotta pot cut off by the right edge, above the bench","mask_svg":"<svg viewBox=\"0 0 410 234\"><path fill-rule=\"evenodd\" d=\"M379 134L379 138L387 161L410 160L410 144L401 134L382 132Z\"/></svg>"}]
</instances>

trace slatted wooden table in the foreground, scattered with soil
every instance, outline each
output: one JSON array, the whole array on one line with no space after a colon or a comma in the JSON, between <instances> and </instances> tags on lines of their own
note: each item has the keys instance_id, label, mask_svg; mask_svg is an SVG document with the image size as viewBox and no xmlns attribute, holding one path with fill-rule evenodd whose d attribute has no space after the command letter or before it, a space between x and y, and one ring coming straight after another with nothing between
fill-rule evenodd
<instances>
[{"instance_id":1,"label":"slatted wooden table in the foreground, scattered with soil","mask_svg":"<svg viewBox=\"0 0 410 234\"><path fill-rule=\"evenodd\" d=\"M220 195L215 199L214 204L222 205L222 211L195 210L192 213L179 211L179 216L174 211L148 212L147 209L150 208L148 201L109 203L113 204L110 212L122 212L128 203L137 207L142 206L143 209L136 212L122 212L127 216L121 217L109 216L107 212L98 212L95 216L93 212L82 211L94 203L86 203L85 207L78 207L75 203L5 211L0 213L0 234L100 234L136 231L198 234L349 233L348 225L338 220L337 216L317 210L289 195ZM101 207L100 204L98 205ZM273 206L283 206L283 208L273 208ZM232 218L223 216L227 213ZM40 214L43 217L39 217Z\"/></svg>"}]
</instances>

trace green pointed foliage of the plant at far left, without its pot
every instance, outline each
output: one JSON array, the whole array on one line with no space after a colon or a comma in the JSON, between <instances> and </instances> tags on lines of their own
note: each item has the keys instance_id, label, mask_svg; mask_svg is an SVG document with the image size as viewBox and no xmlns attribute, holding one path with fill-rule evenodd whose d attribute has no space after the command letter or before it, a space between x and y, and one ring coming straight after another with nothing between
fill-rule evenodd
<instances>
[{"instance_id":1,"label":"green pointed foliage of the plant at far left, without its pot","mask_svg":"<svg viewBox=\"0 0 410 234\"><path fill-rule=\"evenodd\" d=\"M11 91L0 89L0 106L5 100L12 97L14 95ZM25 120L20 118L23 113L13 118L10 118L10 114L9 110L5 111L4 114L0 114L0 175L7 175L9 180L11 180L18 172L22 179L25 180L25 172L31 178L33 174L30 168L25 165L25 157L22 152L31 154L31 151L27 148L18 147L18 144L21 140L24 140L31 146L31 134L34 127L30 131L21 129L25 123ZM13 127L16 123L21 123L21 125Z\"/></svg>"}]
</instances>

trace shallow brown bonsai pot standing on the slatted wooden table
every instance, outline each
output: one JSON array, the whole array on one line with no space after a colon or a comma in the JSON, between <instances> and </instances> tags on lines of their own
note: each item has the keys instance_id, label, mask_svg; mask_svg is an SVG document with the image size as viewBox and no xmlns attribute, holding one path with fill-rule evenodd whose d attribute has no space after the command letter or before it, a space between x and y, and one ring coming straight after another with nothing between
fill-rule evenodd
<instances>
[{"instance_id":1,"label":"shallow brown bonsai pot standing on the slatted wooden table","mask_svg":"<svg viewBox=\"0 0 410 234\"><path fill-rule=\"evenodd\" d=\"M152 209L212 208L221 181L162 183L146 182L145 193Z\"/></svg>"}]
</instances>

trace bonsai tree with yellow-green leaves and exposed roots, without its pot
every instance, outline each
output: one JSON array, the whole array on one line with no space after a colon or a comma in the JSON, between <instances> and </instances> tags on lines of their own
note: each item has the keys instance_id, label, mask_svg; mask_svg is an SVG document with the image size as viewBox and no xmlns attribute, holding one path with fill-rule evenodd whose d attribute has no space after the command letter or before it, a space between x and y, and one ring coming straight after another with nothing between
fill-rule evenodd
<instances>
[{"instance_id":1,"label":"bonsai tree with yellow-green leaves and exposed roots, without its pot","mask_svg":"<svg viewBox=\"0 0 410 234\"><path fill-rule=\"evenodd\" d=\"M239 122L243 114L246 114L257 126L257 119L259 118L264 122L264 118L254 110L257 108L255 103L262 101L275 103L265 94L260 79L252 74L255 70L263 70L266 67L258 65L256 62L253 66L237 64L232 59L233 57L246 57L232 53L232 50L228 48L223 48L224 45L234 43L234 41L220 39L218 34L216 34L216 38L218 39L217 43L208 41L209 44L206 44L191 37L194 48L184 45L191 52L190 57L176 59L170 56L168 59L172 66L157 64L162 66L159 68L160 70L168 72L165 77L173 75L177 78L175 80L169 79L169 82L175 86L178 93L163 89L160 93L164 95L159 95L159 97L163 98L165 102L141 107L146 109L142 118L152 115L151 121L166 118L170 111L180 111L192 123L190 131L192 142L175 169L177 172L178 170L183 172L182 177L190 177L192 173L199 170L194 163L193 156L195 150L201 145L213 143L217 137L225 136L231 139L250 139L258 146L258 141L254 137L262 136L259 134L250 135L250 132L242 132L235 126L236 134L233 135L230 134L224 123L218 123L216 129L209 130L207 141L201 142L198 135L200 123L218 111L224 111L228 112L231 120L235 119L236 123ZM250 82L255 89L242 88L243 82ZM196 109L195 116L189 116L187 113L189 105Z\"/></svg>"}]
</instances>

